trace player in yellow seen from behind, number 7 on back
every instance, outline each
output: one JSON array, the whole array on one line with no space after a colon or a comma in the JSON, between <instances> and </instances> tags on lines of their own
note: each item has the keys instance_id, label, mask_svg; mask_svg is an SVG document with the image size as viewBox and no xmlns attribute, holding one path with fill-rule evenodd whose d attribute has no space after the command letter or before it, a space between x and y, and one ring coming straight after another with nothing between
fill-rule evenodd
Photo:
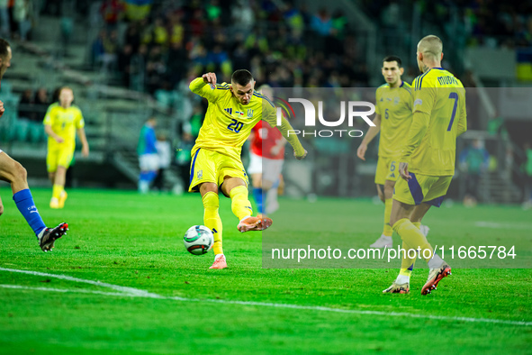
<instances>
[{"instance_id":1,"label":"player in yellow seen from behind, number 7 on back","mask_svg":"<svg viewBox=\"0 0 532 355\"><path fill-rule=\"evenodd\" d=\"M414 80L413 118L399 159L398 180L393 193L393 231L401 236L404 250L419 250L428 262L428 280L421 288L427 295L450 275L451 268L441 259L419 223L430 206L439 207L455 174L456 137L467 127L464 86L453 74L441 68L443 44L429 35L418 43L418 66L423 72ZM413 253L415 254L415 253ZM415 262L402 255L401 271L383 292L408 293L410 273Z\"/></svg>"}]
</instances>

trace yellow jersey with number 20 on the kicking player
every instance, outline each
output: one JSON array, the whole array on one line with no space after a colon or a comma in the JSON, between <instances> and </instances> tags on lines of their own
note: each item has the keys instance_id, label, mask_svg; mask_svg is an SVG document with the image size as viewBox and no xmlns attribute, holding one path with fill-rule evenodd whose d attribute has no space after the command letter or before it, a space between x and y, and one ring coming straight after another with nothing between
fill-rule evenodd
<instances>
[{"instance_id":1,"label":"yellow jersey with number 20 on the kicking player","mask_svg":"<svg viewBox=\"0 0 532 355\"><path fill-rule=\"evenodd\" d=\"M261 119L275 124L275 106L266 96L253 93L249 104L241 105L232 95L229 84L222 83L213 88L203 83L202 77L195 78L190 83L190 89L209 101L205 120L192 150L193 155L196 150L203 148L240 159L242 145L255 124Z\"/></svg>"}]
</instances>

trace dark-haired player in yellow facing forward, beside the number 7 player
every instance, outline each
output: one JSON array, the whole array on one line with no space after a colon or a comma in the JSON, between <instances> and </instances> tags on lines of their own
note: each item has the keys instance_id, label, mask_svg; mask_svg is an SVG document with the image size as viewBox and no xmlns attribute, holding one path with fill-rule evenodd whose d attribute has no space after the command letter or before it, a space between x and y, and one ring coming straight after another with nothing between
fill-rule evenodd
<instances>
[{"instance_id":1,"label":"dark-haired player in yellow facing forward, beside the number 7 player","mask_svg":"<svg viewBox=\"0 0 532 355\"><path fill-rule=\"evenodd\" d=\"M399 57L388 56L383 59L382 73L386 84L379 86L375 94L376 115L373 121L375 125L368 130L356 150L358 158L365 160L367 145L379 132L381 133L375 184L377 193L384 203L384 228L381 237L370 245L371 248L392 247L393 231L390 214L392 214L393 187L399 177L398 159L412 121L412 88L402 81L403 72ZM422 227L422 231L427 235L428 227Z\"/></svg>"}]
</instances>

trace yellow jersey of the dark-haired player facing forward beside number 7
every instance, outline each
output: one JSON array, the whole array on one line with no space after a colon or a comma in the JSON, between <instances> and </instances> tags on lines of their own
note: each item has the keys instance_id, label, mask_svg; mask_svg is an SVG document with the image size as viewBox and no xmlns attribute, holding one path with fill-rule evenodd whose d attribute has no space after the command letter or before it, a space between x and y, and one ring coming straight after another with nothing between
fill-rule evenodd
<instances>
[{"instance_id":1,"label":"yellow jersey of the dark-haired player facing forward beside number 7","mask_svg":"<svg viewBox=\"0 0 532 355\"><path fill-rule=\"evenodd\" d=\"M399 157L412 121L411 86L404 81L399 87L384 84L375 99L375 113L381 115L379 157Z\"/></svg>"}]
</instances>

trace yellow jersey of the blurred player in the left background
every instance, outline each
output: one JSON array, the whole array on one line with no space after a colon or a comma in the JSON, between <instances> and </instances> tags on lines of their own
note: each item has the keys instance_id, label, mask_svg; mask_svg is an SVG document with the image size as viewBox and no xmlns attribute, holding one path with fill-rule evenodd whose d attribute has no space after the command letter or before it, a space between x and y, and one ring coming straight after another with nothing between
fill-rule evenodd
<instances>
[{"instance_id":1,"label":"yellow jersey of the blurred player in the left background","mask_svg":"<svg viewBox=\"0 0 532 355\"><path fill-rule=\"evenodd\" d=\"M64 141L61 144L65 146L76 145L76 130L85 127L83 114L77 105L71 105L64 108L61 105L50 105L48 112L44 116L43 124L50 125L55 132ZM48 145L54 146L59 144L56 140L49 137Z\"/></svg>"}]
</instances>

